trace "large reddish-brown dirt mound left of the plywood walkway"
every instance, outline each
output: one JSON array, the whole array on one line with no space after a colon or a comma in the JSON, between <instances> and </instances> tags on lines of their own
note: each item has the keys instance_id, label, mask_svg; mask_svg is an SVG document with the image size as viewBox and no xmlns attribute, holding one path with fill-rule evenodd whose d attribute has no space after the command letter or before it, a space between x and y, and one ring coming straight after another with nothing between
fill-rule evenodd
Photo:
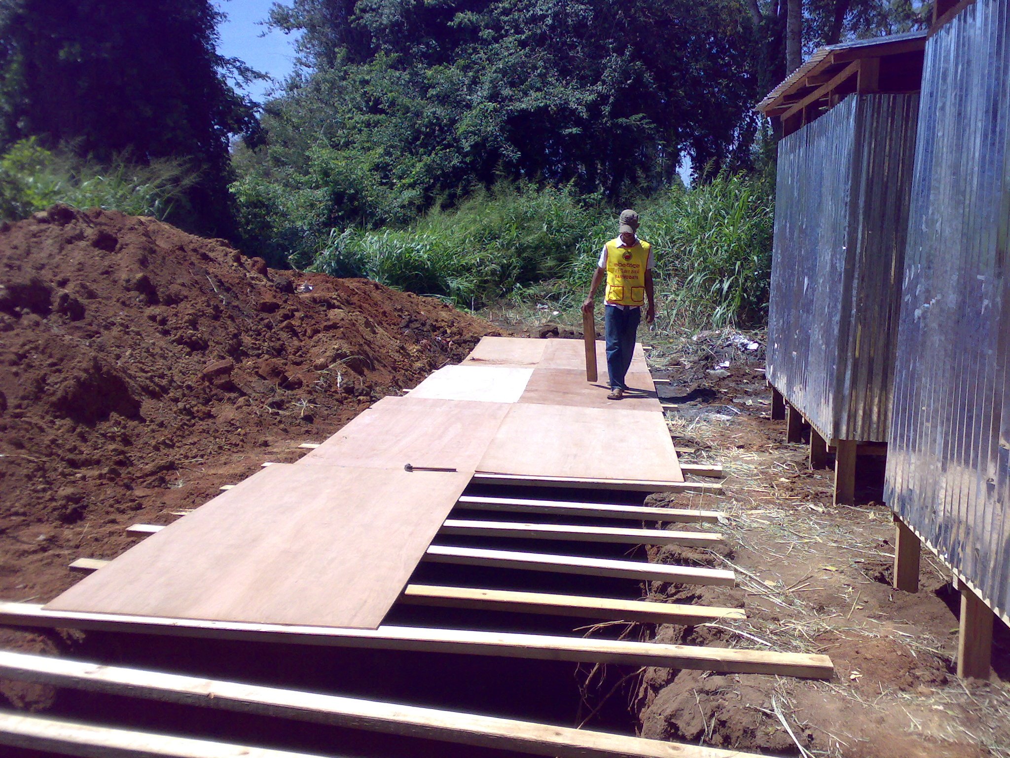
<instances>
[{"instance_id":1,"label":"large reddish-brown dirt mound left of the plywood walkway","mask_svg":"<svg viewBox=\"0 0 1010 758\"><path fill-rule=\"evenodd\" d=\"M58 206L3 224L0 597L53 595L70 560L130 544L128 523L292 460L492 331L150 218Z\"/></svg>"}]
</instances>

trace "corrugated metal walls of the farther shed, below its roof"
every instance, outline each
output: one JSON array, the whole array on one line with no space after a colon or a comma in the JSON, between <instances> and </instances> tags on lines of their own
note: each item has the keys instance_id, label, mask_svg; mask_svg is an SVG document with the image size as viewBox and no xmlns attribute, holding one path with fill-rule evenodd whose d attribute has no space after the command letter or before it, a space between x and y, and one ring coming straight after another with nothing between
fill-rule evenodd
<instances>
[{"instance_id":1,"label":"corrugated metal walls of the farther shed, below its roof","mask_svg":"<svg viewBox=\"0 0 1010 758\"><path fill-rule=\"evenodd\" d=\"M779 143L768 378L827 439L887 439L917 113L849 95Z\"/></svg>"}]
</instances>

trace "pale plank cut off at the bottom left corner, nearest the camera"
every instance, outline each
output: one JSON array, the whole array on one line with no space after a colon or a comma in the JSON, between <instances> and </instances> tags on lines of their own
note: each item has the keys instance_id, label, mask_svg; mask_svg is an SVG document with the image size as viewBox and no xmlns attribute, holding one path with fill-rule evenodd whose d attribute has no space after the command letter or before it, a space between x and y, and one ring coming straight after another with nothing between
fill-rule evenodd
<instances>
[{"instance_id":1,"label":"pale plank cut off at the bottom left corner, nearest the camera","mask_svg":"<svg viewBox=\"0 0 1010 758\"><path fill-rule=\"evenodd\" d=\"M93 724L0 712L0 745L84 758L310 758L189 737L170 737Z\"/></svg>"}]
</instances>

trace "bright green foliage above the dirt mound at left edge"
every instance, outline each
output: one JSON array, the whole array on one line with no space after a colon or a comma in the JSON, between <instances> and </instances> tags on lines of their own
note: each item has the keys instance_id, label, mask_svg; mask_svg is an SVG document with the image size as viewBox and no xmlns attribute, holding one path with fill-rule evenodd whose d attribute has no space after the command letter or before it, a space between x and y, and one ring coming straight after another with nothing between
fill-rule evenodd
<instances>
[{"instance_id":1,"label":"bright green foliage above the dirt mound at left edge","mask_svg":"<svg viewBox=\"0 0 1010 758\"><path fill-rule=\"evenodd\" d=\"M157 218L178 216L185 189L194 180L183 165L169 159L139 165L119 156L102 166L49 152L29 137L0 156L0 219L25 218L58 202Z\"/></svg>"}]
</instances>

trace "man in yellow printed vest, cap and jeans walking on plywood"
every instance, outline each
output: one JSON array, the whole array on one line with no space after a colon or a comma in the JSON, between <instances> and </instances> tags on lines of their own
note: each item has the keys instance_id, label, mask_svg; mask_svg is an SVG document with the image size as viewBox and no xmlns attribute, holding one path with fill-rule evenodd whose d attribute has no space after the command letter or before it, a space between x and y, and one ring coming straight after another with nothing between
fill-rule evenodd
<instances>
[{"instance_id":1,"label":"man in yellow printed vest, cap and jeans walking on plywood","mask_svg":"<svg viewBox=\"0 0 1010 758\"><path fill-rule=\"evenodd\" d=\"M639 240L638 214L622 210L619 235L603 246L600 261L593 274L589 296L582 304L584 312L593 312L593 297L603 277L607 278L604 323L607 328L607 373L610 375L611 400L620 400L627 385L624 376L631 365L634 339L641 320L641 306L648 299L645 320L655 320L652 288L651 246Z\"/></svg>"}]
</instances>

